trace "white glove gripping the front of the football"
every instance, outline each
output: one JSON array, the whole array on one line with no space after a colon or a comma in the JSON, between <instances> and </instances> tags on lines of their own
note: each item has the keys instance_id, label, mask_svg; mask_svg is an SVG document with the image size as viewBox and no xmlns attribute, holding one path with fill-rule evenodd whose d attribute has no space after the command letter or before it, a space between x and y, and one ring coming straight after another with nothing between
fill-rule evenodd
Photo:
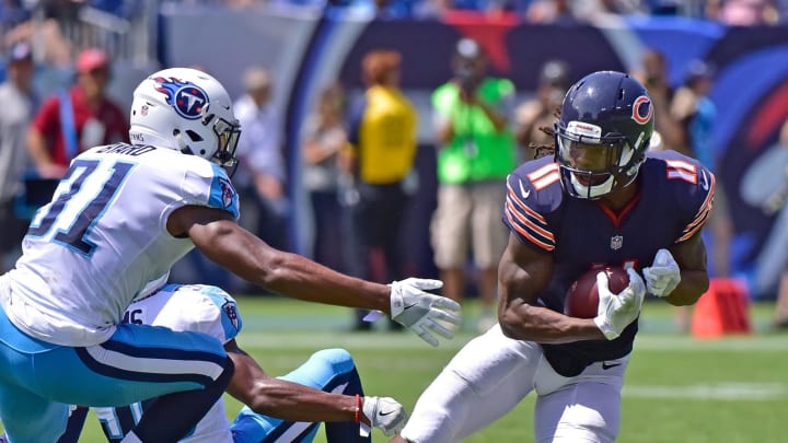
<instances>
[{"instance_id":1,"label":"white glove gripping the front of the football","mask_svg":"<svg viewBox=\"0 0 788 443\"><path fill-rule=\"evenodd\" d=\"M609 340L617 338L624 329L635 322L640 314L646 283L633 268L627 268L629 285L619 294L614 294L607 287L607 273L596 275L599 307L594 323Z\"/></svg>"}]
</instances>

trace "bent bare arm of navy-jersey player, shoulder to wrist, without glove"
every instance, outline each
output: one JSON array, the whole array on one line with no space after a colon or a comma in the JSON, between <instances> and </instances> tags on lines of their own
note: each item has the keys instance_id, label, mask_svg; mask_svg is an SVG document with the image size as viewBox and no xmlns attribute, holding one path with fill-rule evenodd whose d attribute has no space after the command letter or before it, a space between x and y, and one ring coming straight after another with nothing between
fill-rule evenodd
<instances>
[{"instance_id":1,"label":"bent bare arm of navy-jersey player, shoulder to wrist, without glove","mask_svg":"<svg viewBox=\"0 0 788 443\"><path fill-rule=\"evenodd\" d=\"M536 305L552 273L549 254L524 246L509 235L509 245L498 265L498 323L503 335L543 343L603 340L593 319L568 317Z\"/></svg>"}]
</instances>

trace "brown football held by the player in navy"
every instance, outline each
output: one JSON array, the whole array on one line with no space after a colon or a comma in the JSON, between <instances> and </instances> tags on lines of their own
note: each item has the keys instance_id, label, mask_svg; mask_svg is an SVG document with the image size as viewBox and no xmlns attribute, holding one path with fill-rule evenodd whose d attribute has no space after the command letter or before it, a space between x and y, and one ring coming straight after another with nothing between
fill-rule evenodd
<instances>
[{"instance_id":1,"label":"brown football held by the player in navy","mask_svg":"<svg viewBox=\"0 0 788 443\"><path fill-rule=\"evenodd\" d=\"M577 318L596 316L599 311L596 275L601 271L607 275L607 288L612 293L617 294L629 285L629 276L624 268L607 267L588 270L569 287L564 300L564 315Z\"/></svg>"}]
</instances>

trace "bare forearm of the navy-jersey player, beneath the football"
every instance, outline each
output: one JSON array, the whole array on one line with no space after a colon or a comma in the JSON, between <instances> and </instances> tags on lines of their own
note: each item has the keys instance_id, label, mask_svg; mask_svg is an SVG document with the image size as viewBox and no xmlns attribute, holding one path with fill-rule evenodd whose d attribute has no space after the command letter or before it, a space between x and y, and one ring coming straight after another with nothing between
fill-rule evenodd
<instances>
[{"instance_id":1,"label":"bare forearm of the navy-jersey player, beneath the football","mask_svg":"<svg viewBox=\"0 0 788 443\"><path fill-rule=\"evenodd\" d=\"M592 319L573 318L534 306L522 299L508 303L498 316L503 335L517 340L540 343L567 343L580 340L604 340Z\"/></svg>"}]
</instances>

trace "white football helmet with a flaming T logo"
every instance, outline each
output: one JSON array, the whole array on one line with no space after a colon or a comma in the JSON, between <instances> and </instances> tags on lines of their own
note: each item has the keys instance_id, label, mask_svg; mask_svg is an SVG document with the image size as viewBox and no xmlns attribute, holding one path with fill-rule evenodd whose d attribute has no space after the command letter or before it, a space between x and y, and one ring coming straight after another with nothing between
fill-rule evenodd
<instances>
[{"instance_id":1,"label":"white football helmet with a flaming T logo","mask_svg":"<svg viewBox=\"0 0 788 443\"><path fill-rule=\"evenodd\" d=\"M224 86L189 68L149 75L134 92L129 138L232 166L241 125Z\"/></svg>"}]
</instances>

